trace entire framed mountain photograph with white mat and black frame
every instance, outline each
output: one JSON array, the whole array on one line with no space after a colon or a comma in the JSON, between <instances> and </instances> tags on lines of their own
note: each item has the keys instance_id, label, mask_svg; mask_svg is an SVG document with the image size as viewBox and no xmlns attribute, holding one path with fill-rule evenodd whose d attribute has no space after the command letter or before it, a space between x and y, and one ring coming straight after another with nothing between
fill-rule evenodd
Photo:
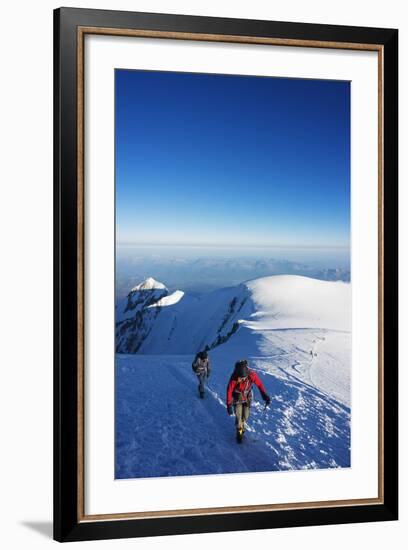
<instances>
[{"instance_id":1,"label":"entire framed mountain photograph with white mat and black frame","mask_svg":"<svg viewBox=\"0 0 408 550\"><path fill-rule=\"evenodd\" d=\"M397 519L397 31L54 29L55 539Z\"/></svg>"}]
</instances>

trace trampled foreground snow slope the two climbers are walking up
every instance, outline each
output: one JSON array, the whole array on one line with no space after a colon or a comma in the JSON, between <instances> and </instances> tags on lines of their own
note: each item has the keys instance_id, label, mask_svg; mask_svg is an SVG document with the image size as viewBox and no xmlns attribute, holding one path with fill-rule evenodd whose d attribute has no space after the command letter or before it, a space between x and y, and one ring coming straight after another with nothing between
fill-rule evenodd
<instances>
[{"instance_id":1,"label":"trampled foreground snow slope the two climbers are walking up","mask_svg":"<svg viewBox=\"0 0 408 550\"><path fill-rule=\"evenodd\" d=\"M117 355L115 477L350 466L348 384L342 390L336 377L344 379L344 365L341 354L332 353L333 346L347 348L346 335L305 329L263 336L263 352L270 355L249 359L272 402L265 409L254 388L242 445L225 406L236 359L228 343L210 353L203 400L191 355Z\"/></svg>"}]
</instances>

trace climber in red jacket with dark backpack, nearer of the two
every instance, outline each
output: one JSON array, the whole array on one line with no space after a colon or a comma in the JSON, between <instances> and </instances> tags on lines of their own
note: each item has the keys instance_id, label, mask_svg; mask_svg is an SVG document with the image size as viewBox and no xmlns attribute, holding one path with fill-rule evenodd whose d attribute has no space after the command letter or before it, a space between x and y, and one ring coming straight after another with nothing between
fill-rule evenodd
<instances>
[{"instance_id":1,"label":"climber in red jacket with dark backpack, nearer of the two","mask_svg":"<svg viewBox=\"0 0 408 550\"><path fill-rule=\"evenodd\" d=\"M269 405L271 398L256 372L248 368L248 361L244 359L235 363L234 372L227 387L227 411L230 416L235 412L238 443L242 441L245 422L249 418L253 384L258 387L266 405Z\"/></svg>"}]
</instances>

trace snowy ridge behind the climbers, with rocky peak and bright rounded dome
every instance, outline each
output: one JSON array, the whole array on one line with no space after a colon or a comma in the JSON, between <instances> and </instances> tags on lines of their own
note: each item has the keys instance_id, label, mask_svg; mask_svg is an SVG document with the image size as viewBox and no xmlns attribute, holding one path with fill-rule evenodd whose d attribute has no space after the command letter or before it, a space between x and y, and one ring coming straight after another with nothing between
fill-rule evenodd
<instances>
[{"instance_id":1,"label":"snowy ridge behind the climbers, with rocky peak and bright rounded dome","mask_svg":"<svg viewBox=\"0 0 408 550\"><path fill-rule=\"evenodd\" d=\"M242 327L350 330L350 285L296 275L263 277L199 298L162 283L137 285L116 312L118 353L213 349Z\"/></svg>"}]
</instances>

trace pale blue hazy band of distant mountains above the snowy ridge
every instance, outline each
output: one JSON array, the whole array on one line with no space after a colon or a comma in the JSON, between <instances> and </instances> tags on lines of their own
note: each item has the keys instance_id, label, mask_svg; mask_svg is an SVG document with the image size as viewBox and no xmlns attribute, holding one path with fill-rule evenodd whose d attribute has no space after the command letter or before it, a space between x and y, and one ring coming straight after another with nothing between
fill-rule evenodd
<instances>
[{"instance_id":1,"label":"pale blue hazy band of distant mountains above the snowy ridge","mask_svg":"<svg viewBox=\"0 0 408 550\"><path fill-rule=\"evenodd\" d=\"M203 293L277 274L349 281L349 250L151 245L116 248L118 299L148 277L172 291Z\"/></svg>"}]
</instances>

